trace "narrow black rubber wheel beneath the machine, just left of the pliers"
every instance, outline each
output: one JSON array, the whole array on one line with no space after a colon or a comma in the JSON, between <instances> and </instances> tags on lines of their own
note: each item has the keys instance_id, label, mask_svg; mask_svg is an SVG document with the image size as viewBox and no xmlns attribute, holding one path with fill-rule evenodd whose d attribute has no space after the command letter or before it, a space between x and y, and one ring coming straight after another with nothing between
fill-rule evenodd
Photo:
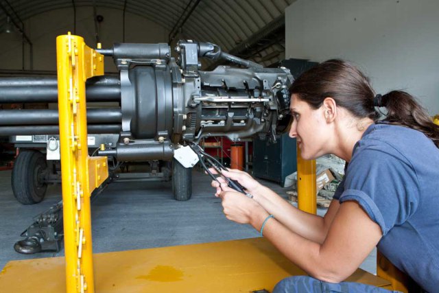
<instances>
[{"instance_id":1,"label":"narrow black rubber wheel beneath the machine, just left of the pliers","mask_svg":"<svg viewBox=\"0 0 439 293\"><path fill-rule=\"evenodd\" d=\"M172 194L176 200L190 200L192 196L192 168L185 168L172 159Z\"/></svg>"}]
</instances>

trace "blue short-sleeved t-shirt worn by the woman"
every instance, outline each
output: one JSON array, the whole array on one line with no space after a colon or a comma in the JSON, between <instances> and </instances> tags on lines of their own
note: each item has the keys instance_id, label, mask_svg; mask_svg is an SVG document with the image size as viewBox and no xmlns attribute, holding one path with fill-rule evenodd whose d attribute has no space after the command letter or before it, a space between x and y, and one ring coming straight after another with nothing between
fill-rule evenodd
<instances>
[{"instance_id":1,"label":"blue short-sleeved t-shirt worn by the woman","mask_svg":"<svg viewBox=\"0 0 439 293\"><path fill-rule=\"evenodd\" d=\"M372 124L354 147L334 198L379 224L377 247L428 292L439 290L439 149L422 132Z\"/></svg>"}]
</instances>

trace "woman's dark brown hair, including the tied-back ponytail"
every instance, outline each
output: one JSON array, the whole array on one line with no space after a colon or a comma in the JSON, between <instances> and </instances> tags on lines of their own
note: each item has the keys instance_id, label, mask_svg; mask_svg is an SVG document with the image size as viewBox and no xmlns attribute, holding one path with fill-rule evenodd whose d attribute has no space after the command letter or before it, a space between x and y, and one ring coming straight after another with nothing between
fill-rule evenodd
<instances>
[{"instance_id":1,"label":"woman's dark brown hair, including the tied-back ponytail","mask_svg":"<svg viewBox=\"0 0 439 293\"><path fill-rule=\"evenodd\" d=\"M381 116L375 109L377 99L368 78L343 60L328 60L302 73L289 93L297 94L311 108L320 108L326 97L332 97L338 106L346 108L355 117L368 117L377 122ZM390 91L378 100L379 106L388 110L383 121L419 130L439 148L439 126L431 121L427 111L412 95Z\"/></svg>"}]
</instances>

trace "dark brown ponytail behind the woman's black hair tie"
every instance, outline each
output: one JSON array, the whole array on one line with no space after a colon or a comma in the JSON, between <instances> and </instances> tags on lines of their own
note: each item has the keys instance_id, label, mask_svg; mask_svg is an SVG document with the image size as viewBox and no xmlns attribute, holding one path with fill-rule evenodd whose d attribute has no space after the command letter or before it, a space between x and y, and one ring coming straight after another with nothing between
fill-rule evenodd
<instances>
[{"instance_id":1,"label":"dark brown ponytail behind the woman's black hair tie","mask_svg":"<svg viewBox=\"0 0 439 293\"><path fill-rule=\"evenodd\" d=\"M404 91L390 91L381 97L381 106L388 110L383 121L423 132L439 148L439 126L412 95Z\"/></svg>"}]
</instances>

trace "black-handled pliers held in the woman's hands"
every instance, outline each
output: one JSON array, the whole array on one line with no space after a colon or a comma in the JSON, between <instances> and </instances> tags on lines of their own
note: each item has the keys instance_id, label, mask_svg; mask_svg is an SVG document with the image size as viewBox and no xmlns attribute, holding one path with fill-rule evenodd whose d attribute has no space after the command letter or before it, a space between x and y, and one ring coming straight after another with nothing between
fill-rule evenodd
<instances>
[{"instance_id":1,"label":"black-handled pliers held in the woman's hands","mask_svg":"<svg viewBox=\"0 0 439 293\"><path fill-rule=\"evenodd\" d=\"M244 187L240 185L236 180L232 180L222 175L222 170L228 171L228 169L226 169L226 167L224 167L222 163L219 163L219 161L215 159L213 156L204 152L204 150L200 147L200 145L193 142L189 142L189 147L193 150L193 152L195 152L195 154L198 156L198 159L200 159L200 164L202 165L206 173L209 174L209 176L211 176L213 180L219 183L219 186L221 186L221 183L219 182L218 178L212 174L212 172L209 170L209 167L206 166L206 164L204 163L204 159L207 161L207 163L209 163L213 167L213 169L215 169L216 172L218 172L220 176L222 176L222 178L224 178L224 180L226 180L228 187L233 188L238 192L241 192L241 194L245 194L249 198L253 198L253 196L248 192L246 192L244 190Z\"/></svg>"}]
</instances>

